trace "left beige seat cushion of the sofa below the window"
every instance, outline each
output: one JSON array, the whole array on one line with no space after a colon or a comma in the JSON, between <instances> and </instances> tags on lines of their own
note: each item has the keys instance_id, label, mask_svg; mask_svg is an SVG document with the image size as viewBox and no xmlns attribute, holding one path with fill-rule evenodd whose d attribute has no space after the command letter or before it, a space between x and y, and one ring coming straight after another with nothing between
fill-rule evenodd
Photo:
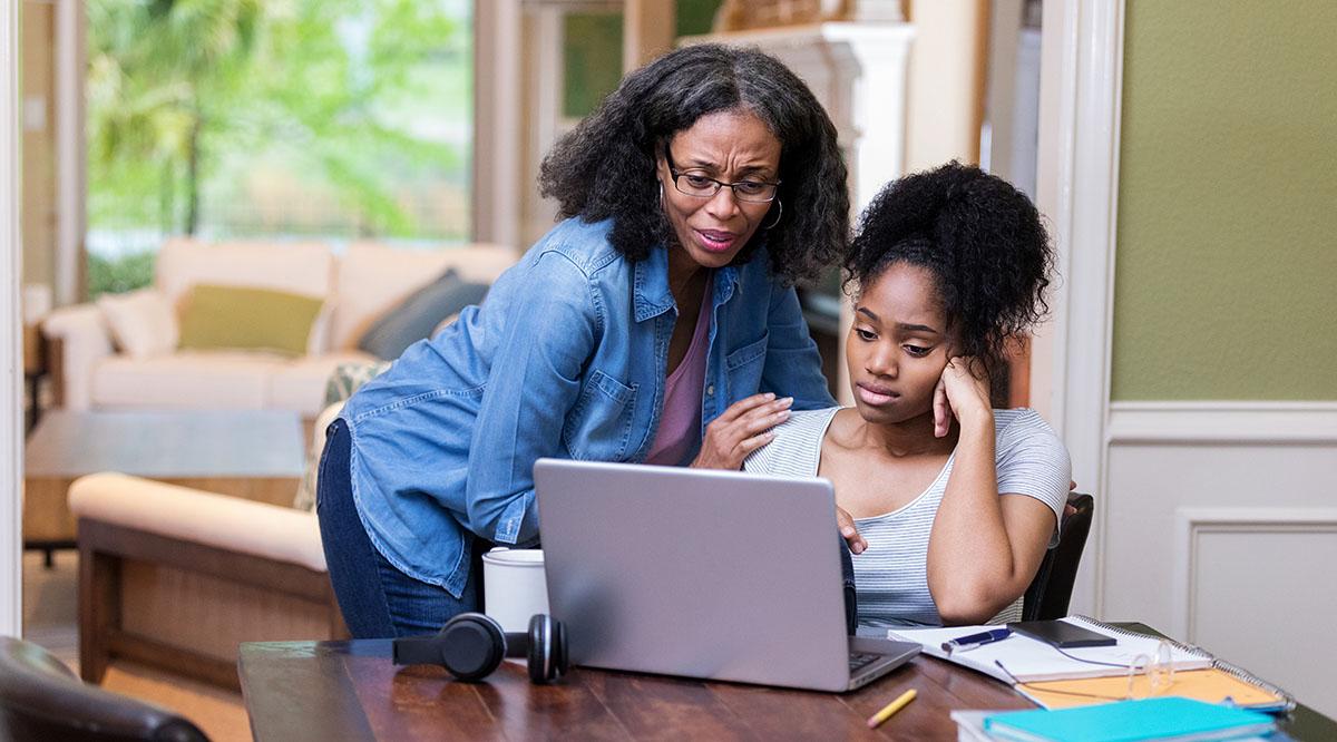
<instances>
[{"instance_id":1,"label":"left beige seat cushion of the sofa below the window","mask_svg":"<svg viewBox=\"0 0 1337 742\"><path fill-rule=\"evenodd\" d=\"M178 350L143 360L111 356L94 366L92 404L99 408L265 409L270 377L287 362L281 356L221 350Z\"/></svg>"}]
</instances>

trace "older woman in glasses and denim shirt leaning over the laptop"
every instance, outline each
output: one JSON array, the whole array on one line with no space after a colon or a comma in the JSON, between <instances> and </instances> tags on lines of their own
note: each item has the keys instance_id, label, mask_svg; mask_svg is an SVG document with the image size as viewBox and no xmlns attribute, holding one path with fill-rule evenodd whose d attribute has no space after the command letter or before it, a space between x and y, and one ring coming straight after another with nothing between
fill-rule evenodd
<instances>
[{"instance_id":1,"label":"older woman in glasses and denim shirt leaning over the laptop","mask_svg":"<svg viewBox=\"0 0 1337 742\"><path fill-rule=\"evenodd\" d=\"M475 555L539 539L541 456L737 469L790 409L833 404L792 285L844 247L845 166L779 61L664 55L540 186L564 221L330 426L318 513L356 636L473 610Z\"/></svg>"}]
</instances>

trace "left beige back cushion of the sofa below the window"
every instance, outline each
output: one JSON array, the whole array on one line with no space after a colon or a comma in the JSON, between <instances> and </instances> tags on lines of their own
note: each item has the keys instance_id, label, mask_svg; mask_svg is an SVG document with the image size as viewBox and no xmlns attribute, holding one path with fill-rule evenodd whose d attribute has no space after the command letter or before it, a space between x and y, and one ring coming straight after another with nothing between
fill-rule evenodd
<instances>
[{"instance_id":1,"label":"left beige back cushion of the sofa below the window","mask_svg":"<svg viewBox=\"0 0 1337 742\"><path fill-rule=\"evenodd\" d=\"M172 303L197 283L250 286L326 297L334 273L330 249L312 242L222 242L171 239L158 251L154 285Z\"/></svg>"}]
</instances>

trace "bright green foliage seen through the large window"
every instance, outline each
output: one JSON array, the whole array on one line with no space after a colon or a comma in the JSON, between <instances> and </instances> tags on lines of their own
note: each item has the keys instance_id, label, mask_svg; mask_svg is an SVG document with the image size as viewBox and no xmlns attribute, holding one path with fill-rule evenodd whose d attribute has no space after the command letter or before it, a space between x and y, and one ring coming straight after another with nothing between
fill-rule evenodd
<instances>
[{"instance_id":1,"label":"bright green foliage seen through the large window","mask_svg":"<svg viewBox=\"0 0 1337 742\"><path fill-rule=\"evenodd\" d=\"M86 7L92 291L162 235L467 237L469 3Z\"/></svg>"}]
</instances>

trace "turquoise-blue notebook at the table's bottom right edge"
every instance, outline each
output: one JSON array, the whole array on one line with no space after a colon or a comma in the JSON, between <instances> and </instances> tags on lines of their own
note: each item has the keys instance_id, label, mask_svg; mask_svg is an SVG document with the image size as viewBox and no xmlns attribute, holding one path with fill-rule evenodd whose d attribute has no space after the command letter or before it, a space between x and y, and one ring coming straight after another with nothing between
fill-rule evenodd
<instances>
[{"instance_id":1,"label":"turquoise-blue notebook at the table's bottom right edge","mask_svg":"<svg viewBox=\"0 0 1337 742\"><path fill-rule=\"evenodd\" d=\"M1024 742L1234 739L1266 734L1274 727L1266 714L1177 697L1059 711L1011 711L984 719L984 730L991 735Z\"/></svg>"}]
</instances>

